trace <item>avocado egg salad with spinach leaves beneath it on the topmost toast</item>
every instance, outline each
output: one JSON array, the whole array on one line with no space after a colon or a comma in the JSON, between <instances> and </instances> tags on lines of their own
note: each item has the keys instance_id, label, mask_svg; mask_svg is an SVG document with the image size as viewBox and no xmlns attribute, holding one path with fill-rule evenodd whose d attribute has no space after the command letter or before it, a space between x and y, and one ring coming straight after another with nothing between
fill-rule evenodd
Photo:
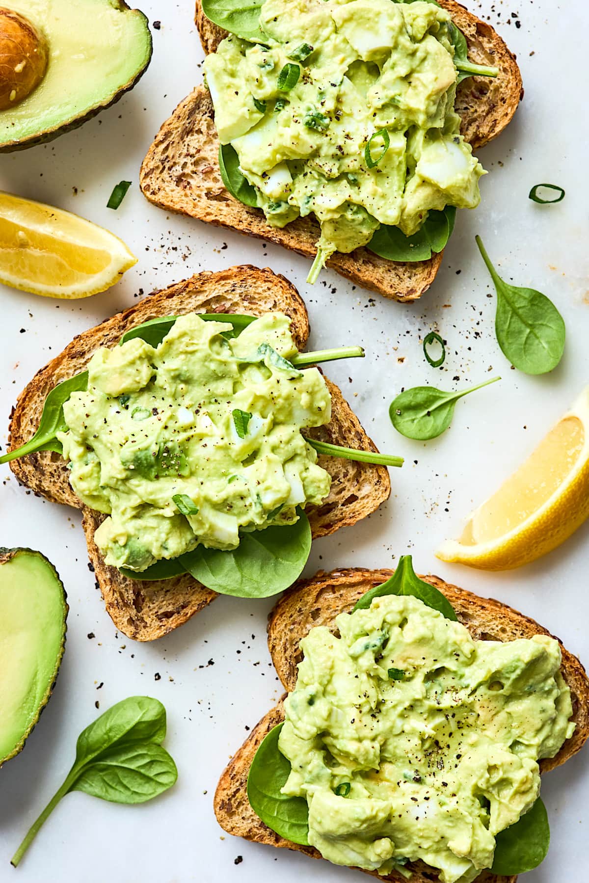
<instances>
[{"instance_id":1,"label":"avocado egg salad with spinach leaves beneath it on the topmost toast","mask_svg":"<svg viewBox=\"0 0 589 883\"><path fill-rule=\"evenodd\" d=\"M203 4L215 21L215 3ZM256 11L258 8L256 7ZM308 281L336 251L389 260L440 252L484 174L460 134L457 83L472 64L431 2L266 0L204 64L223 183L271 226L321 224Z\"/></svg>"}]
</instances>

